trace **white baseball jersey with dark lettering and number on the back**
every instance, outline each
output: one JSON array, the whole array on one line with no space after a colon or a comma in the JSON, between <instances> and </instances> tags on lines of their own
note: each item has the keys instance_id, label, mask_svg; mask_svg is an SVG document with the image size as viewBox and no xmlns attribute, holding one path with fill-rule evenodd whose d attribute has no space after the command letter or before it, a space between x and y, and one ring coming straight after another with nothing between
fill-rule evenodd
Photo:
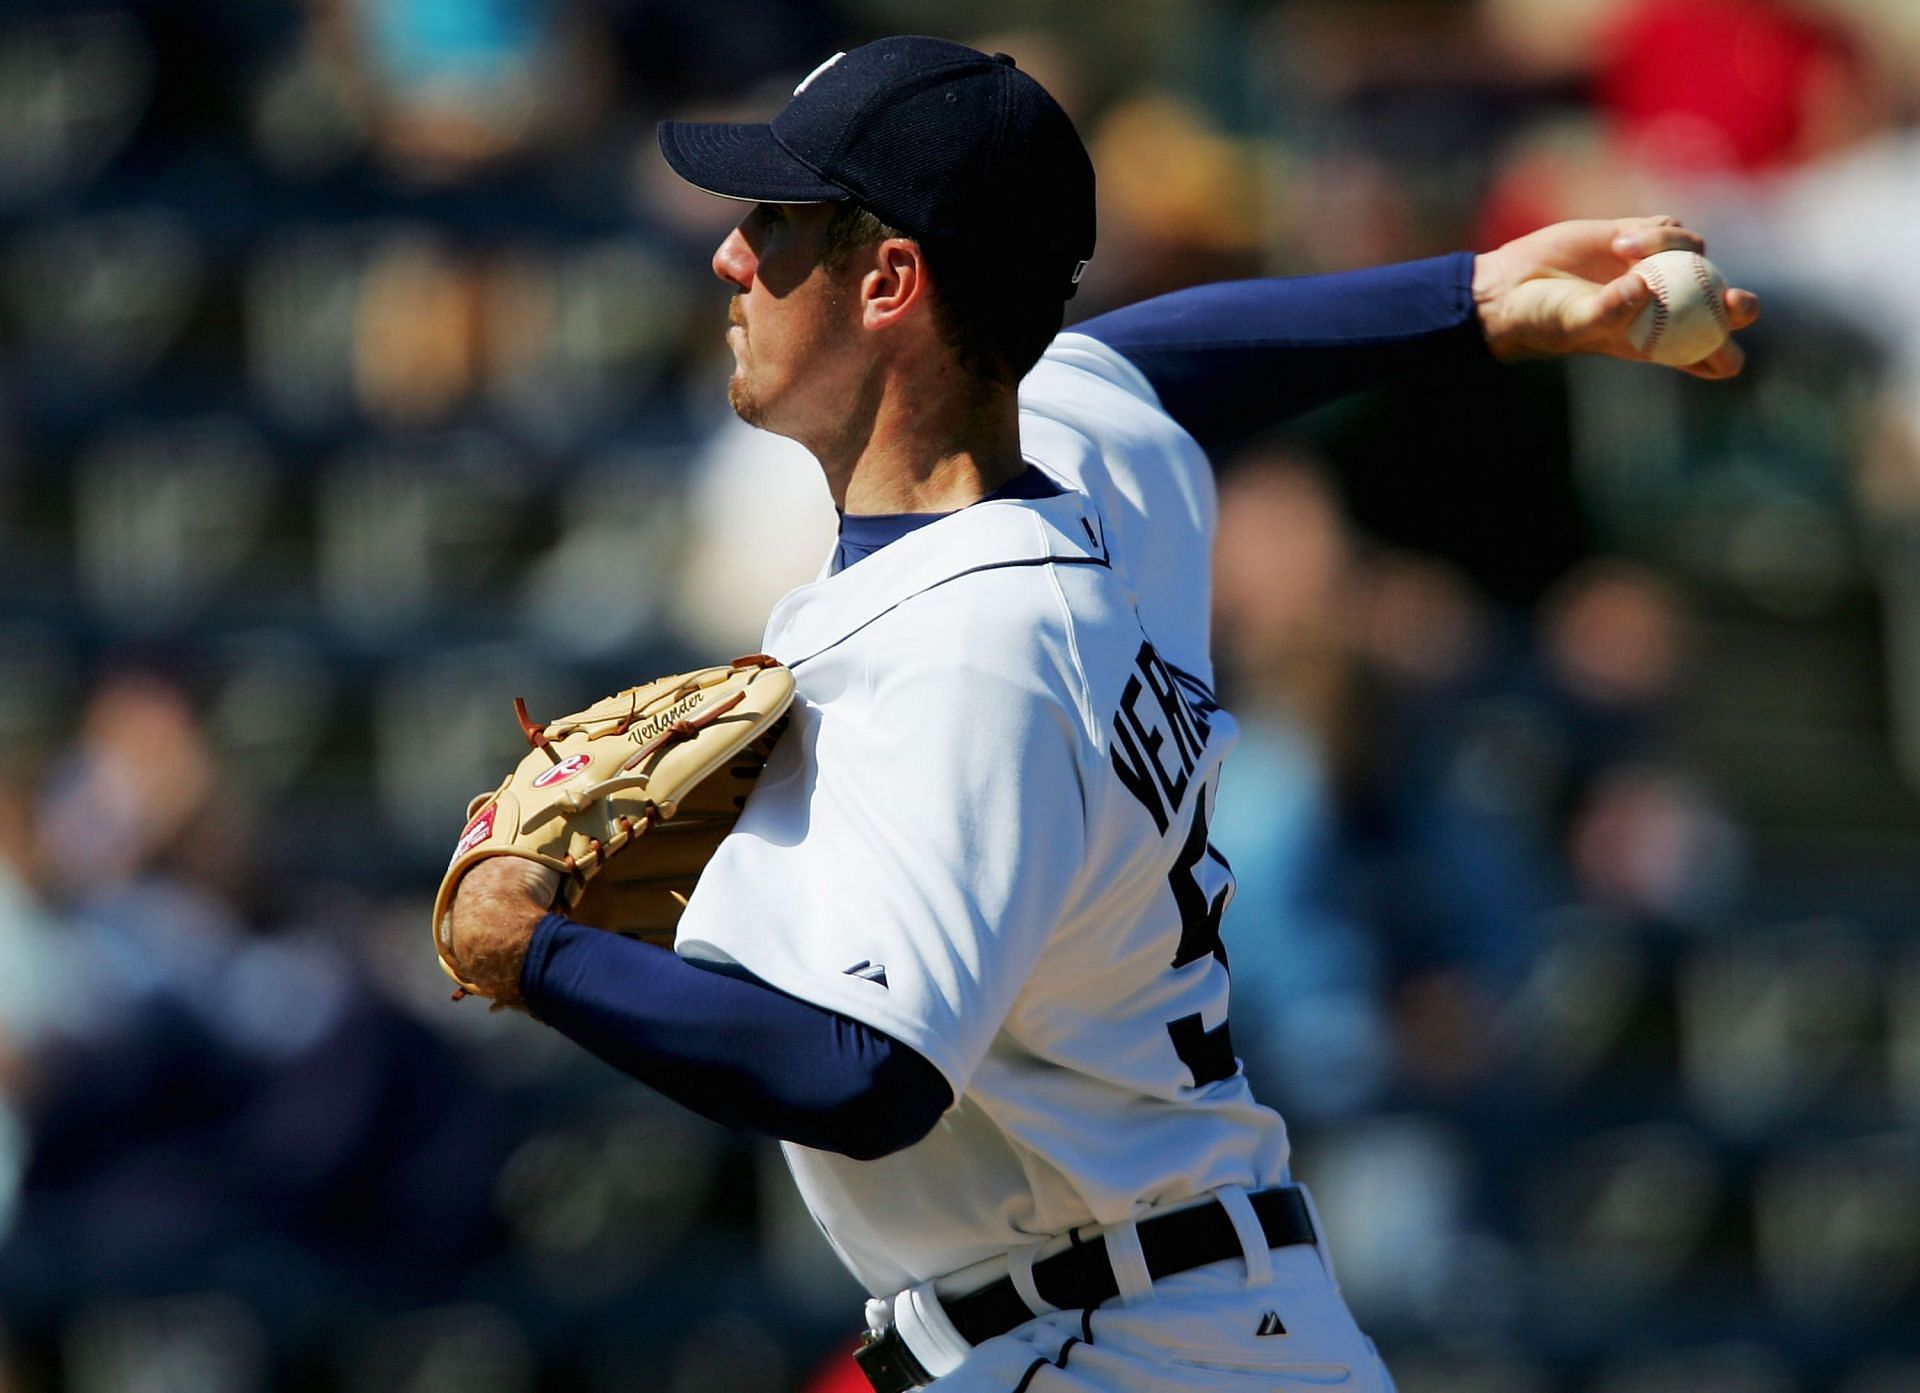
<instances>
[{"instance_id":1,"label":"white baseball jersey with dark lettering and number on the back","mask_svg":"<svg viewBox=\"0 0 1920 1393\"><path fill-rule=\"evenodd\" d=\"M793 723L680 925L684 956L952 1086L879 1161L787 1145L876 1295L1286 1170L1225 1032L1210 466L1091 338L1020 399L1023 453L1069 491L964 508L780 602Z\"/></svg>"}]
</instances>

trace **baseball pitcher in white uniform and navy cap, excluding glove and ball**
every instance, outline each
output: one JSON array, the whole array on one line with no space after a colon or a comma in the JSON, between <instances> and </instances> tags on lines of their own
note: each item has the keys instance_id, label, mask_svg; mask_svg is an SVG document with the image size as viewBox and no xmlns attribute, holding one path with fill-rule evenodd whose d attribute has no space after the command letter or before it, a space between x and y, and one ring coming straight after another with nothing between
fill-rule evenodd
<instances>
[{"instance_id":1,"label":"baseball pitcher in white uniform and navy cap, excluding glove and ball","mask_svg":"<svg viewBox=\"0 0 1920 1393\"><path fill-rule=\"evenodd\" d=\"M785 1142L876 1389L1388 1389L1227 1030L1204 447L1428 361L1636 357L1628 265L1699 238L1561 224L1060 334L1092 167L1006 56L885 38L660 146L743 201L732 403L818 457L839 547L768 622L793 721L676 952L503 858L453 904L472 980Z\"/></svg>"}]
</instances>

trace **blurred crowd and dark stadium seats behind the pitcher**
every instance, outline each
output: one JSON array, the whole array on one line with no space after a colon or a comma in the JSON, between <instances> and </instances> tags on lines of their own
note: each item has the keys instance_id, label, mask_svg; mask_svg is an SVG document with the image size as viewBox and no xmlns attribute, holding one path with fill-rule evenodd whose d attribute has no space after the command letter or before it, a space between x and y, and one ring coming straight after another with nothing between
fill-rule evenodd
<instances>
[{"instance_id":1,"label":"blurred crowd and dark stadium seats behind the pitcher","mask_svg":"<svg viewBox=\"0 0 1920 1393\"><path fill-rule=\"evenodd\" d=\"M1404 1393L1916 1393L1916 0L0 4L0 1389L852 1387L778 1153L426 919L513 696L824 555L651 130L897 31L1079 121L1073 317L1626 211L1766 295L1217 460L1233 1028Z\"/></svg>"}]
</instances>

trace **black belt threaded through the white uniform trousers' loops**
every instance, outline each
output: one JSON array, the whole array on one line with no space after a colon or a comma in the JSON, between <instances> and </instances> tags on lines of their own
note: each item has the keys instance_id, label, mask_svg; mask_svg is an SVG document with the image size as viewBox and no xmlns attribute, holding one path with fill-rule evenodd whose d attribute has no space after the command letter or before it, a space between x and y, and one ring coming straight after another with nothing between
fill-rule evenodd
<instances>
[{"instance_id":1,"label":"black belt threaded through the white uniform trousers' loops","mask_svg":"<svg viewBox=\"0 0 1920 1393\"><path fill-rule=\"evenodd\" d=\"M1254 1215L1269 1247L1313 1241L1313 1218L1296 1188L1261 1190L1248 1199L1254 1201ZM1219 1201L1142 1218L1137 1232L1146 1272L1156 1282L1242 1255L1240 1236ZM1035 1263L1033 1289L1062 1310L1087 1310L1117 1297L1119 1282L1114 1278L1106 1240L1094 1238ZM941 1297L941 1309L970 1345L1004 1335L1037 1314L1014 1287L1014 1278L998 1278L964 1297ZM854 1351L854 1360L876 1393L904 1393L933 1380L893 1326L881 1335L870 1334Z\"/></svg>"}]
</instances>

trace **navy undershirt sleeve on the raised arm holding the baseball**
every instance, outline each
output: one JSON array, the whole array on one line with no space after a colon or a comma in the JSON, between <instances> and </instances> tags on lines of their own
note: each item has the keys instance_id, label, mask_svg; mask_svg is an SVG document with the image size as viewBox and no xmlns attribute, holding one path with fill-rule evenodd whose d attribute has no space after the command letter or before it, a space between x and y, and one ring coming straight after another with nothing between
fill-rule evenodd
<instances>
[{"instance_id":1,"label":"navy undershirt sleeve on the raised arm holding the baseball","mask_svg":"<svg viewBox=\"0 0 1920 1393\"><path fill-rule=\"evenodd\" d=\"M1486 359L1473 253L1288 280L1227 280L1073 326L1121 353L1202 447L1419 366Z\"/></svg>"}]
</instances>

